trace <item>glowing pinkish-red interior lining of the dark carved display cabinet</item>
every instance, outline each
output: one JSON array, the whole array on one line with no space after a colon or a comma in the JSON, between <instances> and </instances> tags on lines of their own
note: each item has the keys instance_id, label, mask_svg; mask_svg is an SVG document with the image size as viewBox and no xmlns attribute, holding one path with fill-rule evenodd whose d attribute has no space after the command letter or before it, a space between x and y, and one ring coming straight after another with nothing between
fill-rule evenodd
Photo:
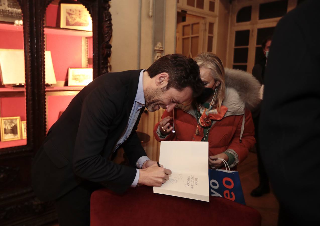
<instances>
[{"instance_id":1,"label":"glowing pinkish-red interior lining of the dark carved display cabinet","mask_svg":"<svg viewBox=\"0 0 320 226\"><path fill-rule=\"evenodd\" d=\"M76 31L70 29L61 29L59 24L60 13L57 5L50 4L47 8L45 22L45 46L46 50L51 51L52 64L57 80L57 85L68 85L68 68L82 68L82 49L84 38L87 42L86 51L88 59L88 68L92 68L92 33ZM58 23L57 23L58 21ZM1 49L23 49L23 29L15 27L8 23L0 23L0 48ZM54 87L58 88L58 87ZM65 92L70 87L59 87L55 94L47 95L47 130L56 122L60 111L64 111L75 92L81 90L77 87L74 93ZM21 121L26 120L26 102L23 92L19 95L8 95L6 89L0 88L0 117L20 116ZM48 88L51 89L51 88ZM6 94L4 94L4 92ZM14 92L12 92L14 93ZM47 92L48 93L48 92ZM27 122L28 123L28 122ZM27 140L15 140L0 142L0 148L26 145Z\"/></svg>"}]
</instances>

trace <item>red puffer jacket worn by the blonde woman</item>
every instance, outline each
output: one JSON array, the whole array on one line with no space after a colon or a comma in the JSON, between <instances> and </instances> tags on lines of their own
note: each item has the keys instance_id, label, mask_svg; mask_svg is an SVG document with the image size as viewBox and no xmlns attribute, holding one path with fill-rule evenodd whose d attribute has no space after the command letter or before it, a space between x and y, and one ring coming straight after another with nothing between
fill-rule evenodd
<instances>
[{"instance_id":1,"label":"red puffer jacket worn by the blonde woman","mask_svg":"<svg viewBox=\"0 0 320 226\"><path fill-rule=\"evenodd\" d=\"M164 111L162 118L167 116L172 117L172 111ZM156 140L192 141L192 137L196 132L196 118L181 109L175 109L174 119L175 133L170 133L164 139L161 139L156 133L159 123L156 124L154 128ZM249 149L255 143L254 125L251 112L248 109L245 111L244 132L240 142L242 119L243 115L230 115L212 125L208 133L209 156L220 154L227 149L233 149L238 154L239 163L247 157Z\"/></svg>"}]
</instances>

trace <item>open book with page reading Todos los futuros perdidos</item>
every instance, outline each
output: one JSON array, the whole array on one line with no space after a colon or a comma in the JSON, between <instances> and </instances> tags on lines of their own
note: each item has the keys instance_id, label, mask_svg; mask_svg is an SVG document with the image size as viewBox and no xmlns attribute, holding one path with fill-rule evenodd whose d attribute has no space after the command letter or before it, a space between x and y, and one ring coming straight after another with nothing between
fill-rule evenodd
<instances>
[{"instance_id":1,"label":"open book with page reading Todos los futuros perdidos","mask_svg":"<svg viewBox=\"0 0 320 226\"><path fill-rule=\"evenodd\" d=\"M209 202L208 142L161 141L159 163L172 174L154 193Z\"/></svg>"}]
</instances>

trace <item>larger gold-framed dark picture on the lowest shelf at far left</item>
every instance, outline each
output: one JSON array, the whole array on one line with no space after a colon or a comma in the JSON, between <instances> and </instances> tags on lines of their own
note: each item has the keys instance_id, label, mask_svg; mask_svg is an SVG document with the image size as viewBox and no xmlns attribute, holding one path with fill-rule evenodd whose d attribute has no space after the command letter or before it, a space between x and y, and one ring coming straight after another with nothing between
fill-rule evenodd
<instances>
[{"instance_id":1,"label":"larger gold-framed dark picture on the lowest shelf at far left","mask_svg":"<svg viewBox=\"0 0 320 226\"><path fill-rule=\"evenodd\" d=\"M0 130L1 141L13 141L20 140L20 117L1 117L0 118Z\"/></svg>"}]
</instances>

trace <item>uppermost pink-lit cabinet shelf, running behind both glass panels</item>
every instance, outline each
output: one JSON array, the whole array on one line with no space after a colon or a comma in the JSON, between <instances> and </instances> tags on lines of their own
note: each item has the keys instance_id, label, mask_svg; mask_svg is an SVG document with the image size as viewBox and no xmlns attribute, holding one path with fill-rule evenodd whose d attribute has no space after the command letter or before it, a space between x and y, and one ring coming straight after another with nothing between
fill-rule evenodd
<instances>
[{"instance_id":1,"label":"uppermost pink-lit cabinet shelf, running behind both glass panels","mask_svg":"<svg viewBox=\"0 0 320 226\"><path fill-rule=\"evenodd\" d=\"M15 26L13 23L1 22L0 30L22 32L23 26ZM49 27L49 26L44 28L44 34L92 37L92 31L81 31L81 30L75 30L75 29L57 28L57 27Z\"/></svg>"}]
</instances>

